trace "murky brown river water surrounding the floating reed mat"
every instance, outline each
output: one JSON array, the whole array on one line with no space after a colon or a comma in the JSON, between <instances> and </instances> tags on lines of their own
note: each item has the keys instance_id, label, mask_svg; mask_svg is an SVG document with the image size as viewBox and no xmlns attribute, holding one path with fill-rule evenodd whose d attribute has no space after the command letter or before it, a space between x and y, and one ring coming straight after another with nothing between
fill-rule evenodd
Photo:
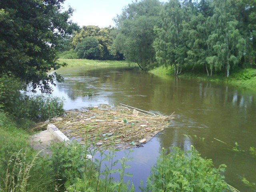
<instances>
[{"instance_id":1,"label":"murky brown river water surrounding the floating reed mat","mask_svg":"<svg viewBox=\"0 0 256 192\"><path fill-rule=\"evenodd\" d=\"M146 181L162 147L189 150L191 145L216 167L227 165L224 176L228 184L241 192L256 191L241 181L246 177L256 182L256 157L248 152L250 147L256 148L256 90L125 68L65 67L58 73L65 83L57 83L53 95L65 98L66 110L123 103L166 115L175 112L170 127L130 154L134 160L127 171L133 177L125 179L134 183L136 191L140 180ZM94 95L88 98L88 92ZM235 142L246 152L233 152ZM116 154L116 158L123 156L124 152Z\"/></svg>"}]
</instances>

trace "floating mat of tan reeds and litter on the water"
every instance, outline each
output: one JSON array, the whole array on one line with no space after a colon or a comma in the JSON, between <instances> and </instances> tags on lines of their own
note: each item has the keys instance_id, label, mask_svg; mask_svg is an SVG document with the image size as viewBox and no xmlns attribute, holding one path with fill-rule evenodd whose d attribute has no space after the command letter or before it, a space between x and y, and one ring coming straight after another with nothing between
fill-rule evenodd
<instances>
[{"instance_id":1,"label":"floating mat of tan reeds and litter on the water","mask_svg":"<svg viewBox=\"0 0 256 192\"><path fill-rule=\"evenodd\" d=\"M137 110L119 106L99 105L84 110L68 110L66 116L50 121L70 140L97 146L114 146L120 149L142 146L158 132L167 128L173 115L150 116Z\"/></svg>"}]
</instances>

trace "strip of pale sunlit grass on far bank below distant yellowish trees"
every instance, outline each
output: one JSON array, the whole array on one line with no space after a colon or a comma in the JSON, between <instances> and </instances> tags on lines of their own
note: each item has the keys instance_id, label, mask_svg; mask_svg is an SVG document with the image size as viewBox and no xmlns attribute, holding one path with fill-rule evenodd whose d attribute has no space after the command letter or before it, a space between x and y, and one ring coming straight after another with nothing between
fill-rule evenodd
<instances>
[{"instance_id":1,"label":"strip of pale sunlit grass on far bank below distant yellowish trees","mask_svg":"<svg viewBox=\"0 0 256 192\"><path fill-rule=\"evenodd\" d=\"M124 66L124 67L134 67L137 66L134 63L128 61L112 61L112 60L88 60L88 59L59 59L59 62L65 62L68 66Z\"/></svg>"}]
</instances>

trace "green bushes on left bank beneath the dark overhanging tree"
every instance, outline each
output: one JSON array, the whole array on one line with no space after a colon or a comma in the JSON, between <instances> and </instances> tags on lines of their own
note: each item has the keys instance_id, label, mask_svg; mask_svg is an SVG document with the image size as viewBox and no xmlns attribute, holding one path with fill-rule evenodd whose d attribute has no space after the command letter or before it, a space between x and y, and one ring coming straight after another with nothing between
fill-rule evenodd
<instances>
[{"instance_id":1,"label":"green bushes on left bank beneath the dark overhanging tree","mask_svg":"<svg viewBox=\"0 0 256 192\"><path fill-rule=\"evenodd\" d=\"M64 113L63 100L52 96L27 96L24 84L13 75L0 76L0 106L18 122L46 120Z\"/></svg>"}]
</instances>

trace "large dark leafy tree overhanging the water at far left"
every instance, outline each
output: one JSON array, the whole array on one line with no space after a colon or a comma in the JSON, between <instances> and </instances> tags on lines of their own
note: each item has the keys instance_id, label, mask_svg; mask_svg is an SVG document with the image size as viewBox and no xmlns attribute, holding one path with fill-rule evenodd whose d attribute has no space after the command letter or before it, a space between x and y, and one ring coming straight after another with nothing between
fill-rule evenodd
<instances>
[{"instance_id":1,"label":"large dark leafy tree overhanging the water at far left","mask_svg":"<svg viewBox=\"0 0 256 192\"><path fill-rule=\"evenodd\" d=\"M61 12L64 0L0 1L0 74L12 73L35 91L51 92L60 39L72 32L68 22L73 10Z\"/></svg>"}]
</instances>

